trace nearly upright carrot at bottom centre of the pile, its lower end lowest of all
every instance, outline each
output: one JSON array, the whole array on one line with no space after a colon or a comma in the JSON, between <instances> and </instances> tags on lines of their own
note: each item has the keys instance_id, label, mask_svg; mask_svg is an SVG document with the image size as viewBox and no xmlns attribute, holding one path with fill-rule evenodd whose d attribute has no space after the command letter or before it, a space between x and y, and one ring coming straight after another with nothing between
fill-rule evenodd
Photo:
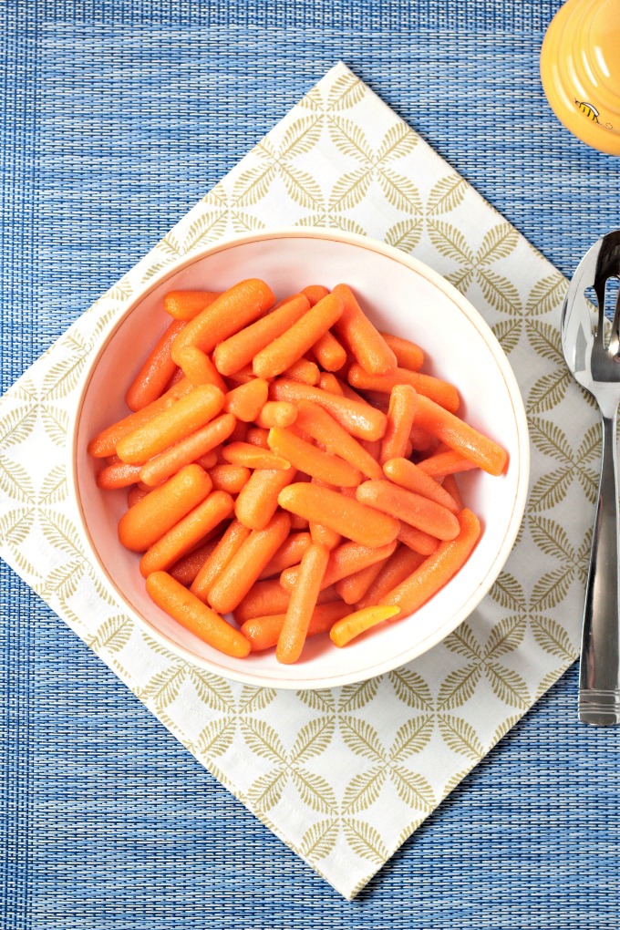
<instances>
[{"instance_id":1,"label":"nearly upright carrot at bottom centre of the pile, its lower end lowest of all","mask_svg":"<svg viewBox=\"0 0 620 930\"><path fill-rule=\"evenodd\" d=\"M278 637L275 656L279 662L290 665L301 655L328 561L326 546L312 544L302 556L297 585L291 591L284 626Z\"/></svg>"}]
</instances>

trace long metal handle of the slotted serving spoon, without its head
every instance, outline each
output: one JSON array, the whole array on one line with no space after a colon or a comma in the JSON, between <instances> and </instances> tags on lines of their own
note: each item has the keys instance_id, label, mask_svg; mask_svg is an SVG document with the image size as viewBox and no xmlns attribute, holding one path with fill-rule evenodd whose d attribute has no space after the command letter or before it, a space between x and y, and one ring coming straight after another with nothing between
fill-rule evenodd
<instances>
[{"instance_id":1,"label":"long metal handle of the slotted serving spoon, without its head","mask_svg":"<svg viewBox=\"0 0 620 930\"><path fill-rule=\"evenodd\" d=\"M620 724L620 566L618 482L613 416L602 413L602 457L592 553L587 574L579 670L579 719Z\"/></svg>"}]
</instances>

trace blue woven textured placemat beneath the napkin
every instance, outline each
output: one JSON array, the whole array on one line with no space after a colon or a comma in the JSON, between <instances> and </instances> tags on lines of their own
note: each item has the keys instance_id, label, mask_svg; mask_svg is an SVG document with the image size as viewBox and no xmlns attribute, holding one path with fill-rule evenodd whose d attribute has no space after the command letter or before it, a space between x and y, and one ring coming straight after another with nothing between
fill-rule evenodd
<instances>
[{"instance_id":1,"label":"blue woven textured placemat beneath the napkin","mask_svg":"<svg viewBox=\"0 0 620 930\"><path fill-rule=\"evenodd\" d=\"M618 163L548 111L557 0L12 0L2 10L6 388L336 60L570 273ZM575 670L348 904L1 568L6 930L617 928L620 729Z\"/></svg>"}]
</instances>

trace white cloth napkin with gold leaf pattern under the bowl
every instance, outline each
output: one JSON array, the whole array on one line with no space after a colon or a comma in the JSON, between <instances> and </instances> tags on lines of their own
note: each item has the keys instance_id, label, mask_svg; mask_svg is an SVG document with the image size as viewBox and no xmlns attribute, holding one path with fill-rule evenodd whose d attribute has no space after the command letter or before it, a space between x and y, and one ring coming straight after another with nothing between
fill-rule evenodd
<instances>
[{"instance_id":1,"label":"white cloth napkin with gold leaf pattern under the bowl","mask_svg":"<svg viewBox=\"0 0 620 930\"><path fill-rule=\"evenodd\" d=\"M466 294L514 367L533 454L519 538L468 621L404 668L297 693L229 682L155 643L88 560L65 479L86 362L134 290L231 233L296 224L384 240ZM590 545L584 498L595 499L599 430L561 356L565 289L546 259L338 64L0 402L2 556L345 897L577 656Z\"/></svg>"}]
</instances>

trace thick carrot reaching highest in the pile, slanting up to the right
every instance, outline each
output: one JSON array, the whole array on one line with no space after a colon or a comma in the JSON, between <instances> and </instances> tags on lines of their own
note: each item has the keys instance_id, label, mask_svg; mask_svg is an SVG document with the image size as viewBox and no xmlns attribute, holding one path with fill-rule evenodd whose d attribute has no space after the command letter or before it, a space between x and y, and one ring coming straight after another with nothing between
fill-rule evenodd
<instances>
[{"instance_id":1,"label":"thick carrot reaching highest in the pile, slanting up to the right","mask_svg":"<svg viewBox=\"0 0 620 930\"><path fill-rule=\"evenodd\" d=\"M178 352L185 346L195 345L203 352L212 352L223 339L252 323L273 304L270 286L258 278L248 278L220 294L203 312L178 334L172 346L172 357L178 364ZM216 366L221 374L222 372Z\"/></svg>"}]
</instances>

